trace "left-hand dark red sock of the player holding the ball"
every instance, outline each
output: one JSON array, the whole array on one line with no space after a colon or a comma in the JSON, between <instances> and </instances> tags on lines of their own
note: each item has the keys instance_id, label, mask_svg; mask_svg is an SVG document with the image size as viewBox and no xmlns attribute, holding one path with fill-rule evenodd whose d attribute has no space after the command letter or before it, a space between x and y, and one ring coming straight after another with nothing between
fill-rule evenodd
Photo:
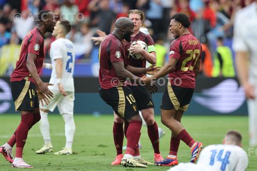
<instances>
[{"instance_id":1,"label":"left-hand dark red sock of the player holding the ball","mask_svg":"<svg viewBox=\"0 0 257 171\"><path fill-rule=\"evenodd\" d=\"M114 122L113 125L113 138L117 151L117 156L122 154L122 145L124 139L123 123Z\"/></svg>"}]
</instances>

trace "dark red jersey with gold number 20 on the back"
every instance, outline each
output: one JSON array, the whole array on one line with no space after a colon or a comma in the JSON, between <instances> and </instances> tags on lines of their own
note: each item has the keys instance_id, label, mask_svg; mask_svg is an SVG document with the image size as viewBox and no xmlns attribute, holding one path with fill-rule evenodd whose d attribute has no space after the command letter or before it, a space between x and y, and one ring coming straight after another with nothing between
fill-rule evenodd
<instances>
[{"instance_id":1,"label":"dark red jersey with gold number 20 on the back","mask_svg":"<svg viewBox=\"0 0 257 171\"><path fill-rule=\"evenodd\" d=\"M169 74L171 85L195 88L194 66L201 59L201 44L196 37L188 33L172 41L169 58L178 60Z\"/></svg>"}]
</instances>

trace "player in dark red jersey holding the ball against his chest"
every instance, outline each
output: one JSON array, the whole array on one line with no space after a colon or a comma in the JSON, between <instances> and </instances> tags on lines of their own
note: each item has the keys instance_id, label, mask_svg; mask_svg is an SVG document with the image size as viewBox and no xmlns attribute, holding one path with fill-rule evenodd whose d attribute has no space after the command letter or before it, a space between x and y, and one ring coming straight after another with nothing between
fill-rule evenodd
<instances>
[{"instance_id":1,"label":"player in dark red jersey holding the ball against his chest","mask_svg":"<svg viewBox=\"0 0 257 171\"><path fill-rule=\"evenodd\" d=\"M140 31L140 27L142 26L142 23L144 21L143 12L138 9L130 10L127 13L127 17L130 18L130 20L134 24L134 29L133 29L134 32L131 36L131 41L124 42L127 64L133 67L141 67L141 68L145 68L146 61L148 61L151 64L156 64L156 51L155 51L154 41L149 34L145 34ZM148 45L148 51L145 51L142 47L137 45L131 46L131 43L134 41L145 42L146 45ZM132 53L141 53L143 58L138 60L132 58L132 56L130 55L130 51L127 49L130 49ZM145 74L136 74L136 75L137 77L141 78ZM160 150L159 150L159 130L158 130L158 125L154 120L154 102L152 99L152 94L146 86L132 84L130 85L130 88L133 91L134 97L137 101L138 109L141 111L142 118L145 121L146 126L148 128L148 136L154 148L154 161L155 162L161 161L163 160L163 158L161 157ZM125 129L127 129L126 122L124 126L124 132L126 132ZM115 165L115 164L120 164L121 158L123 156L122 144L123 144L123 137L124 137L123 120L120 119L115 113L114 113L113 135L114 135L114 143L117 151L116 159L114 162L112 162L112 164ZM141 158L139 149L136 150L134 159L139 161L141 164L153 164Z\"/></svg>"}]
</instances>

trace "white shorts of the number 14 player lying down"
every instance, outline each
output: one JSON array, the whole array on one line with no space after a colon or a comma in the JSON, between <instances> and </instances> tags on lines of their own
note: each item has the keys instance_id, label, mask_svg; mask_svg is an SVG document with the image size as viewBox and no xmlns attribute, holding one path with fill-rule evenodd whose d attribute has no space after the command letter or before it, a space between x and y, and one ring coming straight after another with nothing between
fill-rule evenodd
<instances>
[{"instance_id":1,"label":"white shorts of the number 14 player lying down","mask_svg":"<svg viewBox=\"0 0 257 171\"><path fill-rule=\"evenodd\" d=\"M209 171L205 166L194 163L179 163L167 171Z\"/></svg>"}]
</instances>

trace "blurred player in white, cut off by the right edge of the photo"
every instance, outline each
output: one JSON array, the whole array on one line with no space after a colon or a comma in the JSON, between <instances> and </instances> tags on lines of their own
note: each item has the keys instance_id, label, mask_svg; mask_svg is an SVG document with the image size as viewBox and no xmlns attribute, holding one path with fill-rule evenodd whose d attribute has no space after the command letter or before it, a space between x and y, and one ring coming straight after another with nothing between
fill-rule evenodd
<instances>
[{"instance_id":1,"label":"blurred player in white, cut off by the right edge of the photo","mask_svg":"<svg viewBox=\"0 0 257 171\"><path fill-rule=\"evenodd\" d=\"M235 15L233 49L236 69L242 84L249 113L250 146L257 146L257 1Z\"/></svg>"}]
</instances>

